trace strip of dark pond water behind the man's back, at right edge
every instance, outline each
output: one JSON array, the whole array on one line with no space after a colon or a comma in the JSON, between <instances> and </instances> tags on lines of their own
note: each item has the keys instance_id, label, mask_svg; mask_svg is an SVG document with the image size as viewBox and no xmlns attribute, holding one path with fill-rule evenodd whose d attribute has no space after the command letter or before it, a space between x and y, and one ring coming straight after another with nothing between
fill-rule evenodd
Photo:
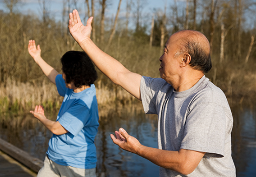
<instances>
[{"instance_id":1,"label":"strip of dark pond water behind the man's back, at right edge","mask_svg":"<svg viewBox=\"0 0 256 177\"><path fill-rule=\"evenodd\" d=\"M232 107L232 156L237 176L256 176L256 111L255 107Z\"/></svg>"}]
</instances>

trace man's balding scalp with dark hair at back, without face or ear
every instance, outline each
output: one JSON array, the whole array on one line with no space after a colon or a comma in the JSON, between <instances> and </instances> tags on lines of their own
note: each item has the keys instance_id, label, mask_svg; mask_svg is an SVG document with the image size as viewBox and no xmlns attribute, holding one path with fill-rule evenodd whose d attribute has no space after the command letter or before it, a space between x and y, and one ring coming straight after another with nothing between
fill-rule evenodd
<instances>
[{"instance_id":1,"label":"man's balding scalp with dark hair at back, without face or ear","mask_svg":"<svg viewBox=\"0 0 256 177\"><path fill-rule=\"evenodd\" d=\"M207 73L212 68L210 45L208 39L199 31L182 30L174 33L172 36L178 37L177 45L181 53L191 55L191 65L195 70Z\"/></svg>"}]
</instances>

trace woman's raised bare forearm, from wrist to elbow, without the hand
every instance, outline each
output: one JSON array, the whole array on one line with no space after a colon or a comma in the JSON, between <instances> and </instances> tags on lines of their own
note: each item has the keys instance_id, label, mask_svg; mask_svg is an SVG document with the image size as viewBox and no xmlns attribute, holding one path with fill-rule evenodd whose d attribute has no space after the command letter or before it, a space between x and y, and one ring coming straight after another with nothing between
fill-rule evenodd
<instances>
[{"instance_id":1,"label":"woman's raised bare forearm, from wrist to elbow, without the hand","mask_svg":"<svg viewBox=\"0 0 256 177\"><path fill-rule=\"evenodd\" d=\"M55 83L55 78L56 76L59 74L53 67L51 67L48 63L46 63L42 57L37 57L35 58L35 62L37 63L37 65L41 68L41 70L43 71L43 73L45 74L45 76L48 77L48 79L54 83Z\"/></svg>"}]
</instances>

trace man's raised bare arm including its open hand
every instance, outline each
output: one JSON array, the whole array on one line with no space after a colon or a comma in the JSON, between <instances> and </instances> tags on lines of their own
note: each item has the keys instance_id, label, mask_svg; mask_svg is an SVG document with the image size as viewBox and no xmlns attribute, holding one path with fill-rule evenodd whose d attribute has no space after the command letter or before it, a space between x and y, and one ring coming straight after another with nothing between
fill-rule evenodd
<instances>
[{"instance_id":1,"label":"man's raised bare arm including its open hand","mask_svg":"<svg viewBox=\"0 0 256 177\"><path fill-rule=\"evenodd\" d=\"M78 11L74 10L69 14L69 31L84 52L90 57L97 68L103 72L113 83L120 85L137 99L140 96L140 74L130 72L120 62L107 55L97 47L90 39L91 22L93 17L84 26L79 17Z\"/></svg>"}]
</instances>

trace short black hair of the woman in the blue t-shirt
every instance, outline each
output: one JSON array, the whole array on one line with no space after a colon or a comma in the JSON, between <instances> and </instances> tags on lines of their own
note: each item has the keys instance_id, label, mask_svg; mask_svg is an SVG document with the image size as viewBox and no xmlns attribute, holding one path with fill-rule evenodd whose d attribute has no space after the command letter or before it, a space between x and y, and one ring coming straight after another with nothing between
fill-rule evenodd
<instances>
[{"instance_id":1,"label":"short black hair of the woman in the blue t-shirt","mask_svg":"<svg viewBox=\"0 0 256 177\"><path fill-rule=\"evenodd\" d=\"M94 64L86 52L68 51L62 56L61 64L66 83L73 81L77 88L82 85L90 86L97 79Z\"/></svg>"}]
</instances>

